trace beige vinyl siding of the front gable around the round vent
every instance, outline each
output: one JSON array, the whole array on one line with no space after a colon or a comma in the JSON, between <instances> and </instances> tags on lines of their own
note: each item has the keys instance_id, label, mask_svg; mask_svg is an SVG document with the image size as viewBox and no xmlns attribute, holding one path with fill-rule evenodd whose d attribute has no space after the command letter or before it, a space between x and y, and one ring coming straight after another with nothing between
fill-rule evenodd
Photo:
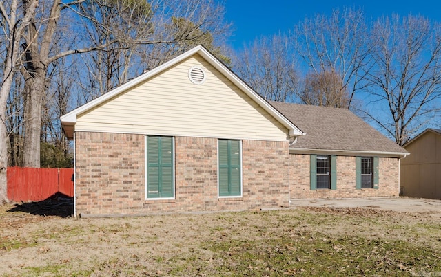
<instances>
[{"instance_id":1,"label":"beige vinyl siding of the front gable around the round vent","mask_svg":"<svg viewBox=\"0 0 441 277\"><path fill-rule=\"evenodd\" d=\"M188 78L192 66L207 77ZM288 130L201 56L78 116L76 131L287 140Z\"/></svg>"}]
</instances>

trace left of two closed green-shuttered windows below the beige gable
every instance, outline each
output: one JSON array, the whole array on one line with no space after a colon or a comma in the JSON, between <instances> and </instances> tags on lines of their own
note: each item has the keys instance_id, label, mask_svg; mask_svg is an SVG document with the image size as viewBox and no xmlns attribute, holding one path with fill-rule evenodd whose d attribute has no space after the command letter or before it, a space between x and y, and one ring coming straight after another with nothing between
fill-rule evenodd
<instances>
[{"instance_id":1,"label":"left of two closed green-shuttered windows below the beige gable","mask_svg":"<svg viewBox=\"0 0 441 277\"><path fill-rule=\"evenodd\" d=\"M174 197L173 137L145 137L147 199Z\"/></svg>"}]
</instances>

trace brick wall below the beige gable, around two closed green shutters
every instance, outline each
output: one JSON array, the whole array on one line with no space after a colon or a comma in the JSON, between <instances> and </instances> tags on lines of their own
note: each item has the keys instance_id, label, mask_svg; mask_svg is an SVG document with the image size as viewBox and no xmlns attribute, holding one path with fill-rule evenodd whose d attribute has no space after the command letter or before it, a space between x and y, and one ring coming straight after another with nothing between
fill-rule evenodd
<instances>
[{"instance_id":1,"label":"brick wall below the beige gable, around two closed green shutters","mask_svg":"<svg viewBox=\"0 0 441 277\"><path fill-rule=\"evenodd\" d=\"M76 213L245 210L288 204L288 142L243 140L243 197L218 199L217 142L175 137L175 199L145 200L144 135L76 132Z\"/></svg>"}]
</instances>

